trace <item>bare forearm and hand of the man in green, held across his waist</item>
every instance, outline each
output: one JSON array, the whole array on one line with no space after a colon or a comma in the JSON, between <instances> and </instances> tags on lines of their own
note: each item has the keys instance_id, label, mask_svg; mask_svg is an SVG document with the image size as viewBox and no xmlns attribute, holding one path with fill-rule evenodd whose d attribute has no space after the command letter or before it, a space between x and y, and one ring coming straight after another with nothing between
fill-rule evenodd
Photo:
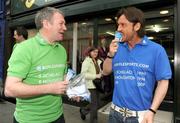
<instances>
[{"instance_id":1,"label":"bare forearm and hand of the man in green, held across his waist","mask_svg":"<svg viewBox=\"0 0 180 123\"><path fill-rule=\"evenodd\" d=\"M5 95L7 97L28 98L45 94L64 94L67 81L54 82L43 85L29 85L17 77L7 76L5 83Z\"/></svg>"}]
</instances>

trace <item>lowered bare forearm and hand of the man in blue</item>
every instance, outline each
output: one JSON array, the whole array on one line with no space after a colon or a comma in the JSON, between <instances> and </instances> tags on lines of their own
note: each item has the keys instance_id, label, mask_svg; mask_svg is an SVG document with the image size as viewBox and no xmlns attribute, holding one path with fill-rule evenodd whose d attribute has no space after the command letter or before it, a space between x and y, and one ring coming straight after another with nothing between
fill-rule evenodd
<instances>
[{"instance_id":1,"label":"lowered bare forearm and hand of the man in blue","mask_svg":"<svg viewBox=\"0 0 180 123\"><path fill-rule=\"evenodd\" d=\"M155 90L153 102L152 102L152 105L150 107L154 111L157 111L158 107L162 103L162 101L163 101L163 99L167 93L168 85L169 85L169 80L158 81L158 85L157 85L156 90ZM145 114L142 123L153 123L154 115L155 114L152 111L148 111Z\"/></svg>"}]
</instances>

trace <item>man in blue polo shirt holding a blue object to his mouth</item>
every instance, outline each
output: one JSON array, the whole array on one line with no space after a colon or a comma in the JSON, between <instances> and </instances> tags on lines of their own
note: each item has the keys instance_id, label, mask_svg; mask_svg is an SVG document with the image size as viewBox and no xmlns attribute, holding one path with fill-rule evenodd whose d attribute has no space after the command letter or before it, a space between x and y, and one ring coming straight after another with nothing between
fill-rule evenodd
<instances>
[{"instance_id":1,"label":"man in blue polo shirt holding a blue object to his mouth","mask_svg":"<svg viewBox=\"0 0 180 123\"><path fill-rule=\"evenodd\" d=\"M140 9L122 8L117 18L122 42L112 40L103 64L103 74L114 73L109 123L153 123L172 76L168 56L145 35Z\"/></svg>"}]
</instances>

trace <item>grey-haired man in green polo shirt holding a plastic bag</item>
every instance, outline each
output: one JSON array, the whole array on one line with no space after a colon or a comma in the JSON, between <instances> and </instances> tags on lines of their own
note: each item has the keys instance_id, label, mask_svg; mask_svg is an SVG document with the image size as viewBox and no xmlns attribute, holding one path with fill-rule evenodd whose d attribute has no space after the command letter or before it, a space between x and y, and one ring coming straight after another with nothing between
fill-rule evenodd
<instances>
[{"instance_id":1,"label":"grey-haired man in green polo shirt holding a plastic bag","mask_svg":"<svg viewBox=\"0 0 180 123\"><path fill-rule=\"evenodd\" d=\"M65 123L61 95L68 84L67 54L59 43L66 31L64 15L46 7L35 23L38 34L20 43L9 59L5 95L16 97L14 123Z\"/></svg>"}]
</instances>

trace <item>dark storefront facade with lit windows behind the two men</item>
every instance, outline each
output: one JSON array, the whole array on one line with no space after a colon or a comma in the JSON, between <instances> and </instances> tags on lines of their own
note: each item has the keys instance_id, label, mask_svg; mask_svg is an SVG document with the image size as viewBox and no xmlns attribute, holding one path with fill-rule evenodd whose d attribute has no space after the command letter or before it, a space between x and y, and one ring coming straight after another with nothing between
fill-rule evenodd
<instances>
[{"instance_id":1,"label":"dark storefront facade with lit windows behind the two men","mask_svg":"<svg viewBox=\"0 0 180 123\"><path fill-rule=\"evenodd\" d=\"M180 2L178 0L11 0L11 11L6 13L5 69L13 47L13 29L25 26L29 36L36 34L34 16L44 6L54 6L66 16L67 32L63 46L68 52L68 63L77 72L84 59L84 50L100 45L106 37L108 44L114 38L116 13L121 7L136 6L144 11L147 36L165 47L171 63L173 78L160 109L174 112L174 121L180 122ZM160 11L168 11L160 14ZM6 72L4 70L4 76Z\"/></svg>"}]
</instances>

